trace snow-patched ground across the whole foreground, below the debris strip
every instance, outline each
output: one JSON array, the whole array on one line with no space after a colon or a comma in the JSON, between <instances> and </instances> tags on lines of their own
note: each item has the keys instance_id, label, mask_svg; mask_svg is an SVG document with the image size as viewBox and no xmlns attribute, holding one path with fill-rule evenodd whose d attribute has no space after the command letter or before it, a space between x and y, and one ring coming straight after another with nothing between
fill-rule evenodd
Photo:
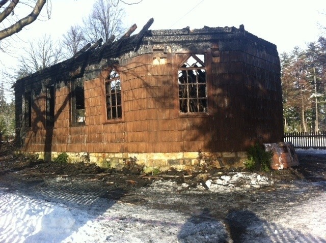
<instances>
[{"instance_id":1,"label":"snow-patched ground across the whole foreground, below the debris strip","mask_svg":"<svg viewBox=\"0 0 326 243\"><path fill-rule=\"evenodd\" d=\"M130 194L146 198L142 205L63 177L23 190L0 184L0 242L326 242L326 181L282 186L231 173L206 184L209 191L183 190L186 184L158 180ZM217 217L223 198L233 209ZM209 200L219 208L214 216L204 207Z\"/></svg>"}]
</instances>

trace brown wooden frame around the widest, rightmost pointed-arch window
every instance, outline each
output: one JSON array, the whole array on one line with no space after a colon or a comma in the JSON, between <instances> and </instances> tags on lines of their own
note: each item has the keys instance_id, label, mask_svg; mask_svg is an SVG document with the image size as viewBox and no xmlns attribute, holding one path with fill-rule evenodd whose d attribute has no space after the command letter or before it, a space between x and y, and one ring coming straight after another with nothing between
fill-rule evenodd
<instances>
[{"instance_id":1,"label":"brown wooden frame around the widest, rightmost pointed-arch window","mask_svg":"<svg viewBox=\"0 0 326 243\"><path fill-rule=\"evenodd\" d=\"M204 62L200 60L200 58L196 55L204 55ZM200 111L200 112L182 112L180 111L180 83L179 83L179 72L181 69L187 69L182 68L182 65L187 61L187 59L191 58L192 56L194 59L203 64L203 67L199 67L197 69L205 69L205 78L206 78L206 111ZM211 93L212 93L212 84L211 84L211 57L209 55L209 51L205 52L187 52L187 53L176 53L175 57L175 65L174 65L174 84L175 84L175 90L176 90L176 97L175 99L175 116L207 116L212 114L212 107L211 103ZM194 70L191 68L188 68L188 70ZM189 99L189 98L187 98ZM197 97L197 99L199 99Z\"/></svg>"}]
</instances>

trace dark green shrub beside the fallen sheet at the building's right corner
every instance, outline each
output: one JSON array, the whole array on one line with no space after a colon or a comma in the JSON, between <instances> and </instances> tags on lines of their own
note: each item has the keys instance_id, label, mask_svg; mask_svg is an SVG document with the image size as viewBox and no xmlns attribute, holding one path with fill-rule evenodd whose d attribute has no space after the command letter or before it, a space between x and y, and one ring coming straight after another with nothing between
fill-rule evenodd
<instances>
[{"instance_id":1,"label":"dark green shrub beside the fallen sheet at the building's right corner","mask_svg":"<svg viewBox=\"0 0 326 243\"><path fill-rule=\"evenodd\" d=\"M270 171L273 151L265 151L262 146L256 143L254 146L249 147L247 155L248 159L243 162L247 169L251 171Z\"/></svg>"}]
</instances>

